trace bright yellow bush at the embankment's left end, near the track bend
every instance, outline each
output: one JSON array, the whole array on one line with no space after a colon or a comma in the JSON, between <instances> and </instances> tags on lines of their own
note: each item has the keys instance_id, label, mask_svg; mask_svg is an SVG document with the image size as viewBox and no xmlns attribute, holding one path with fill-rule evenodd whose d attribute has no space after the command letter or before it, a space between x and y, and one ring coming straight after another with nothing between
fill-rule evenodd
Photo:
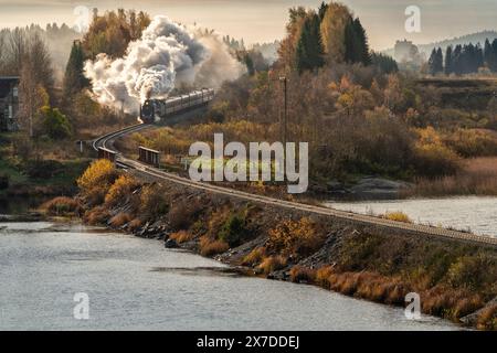
<instances>
[{"instance_id":1,"label":"bright yellow bush at the embankment's left end, near the track bend","mask_svg":"<svg viewBox=\"0 0 497 353\"><path fill-rule=\"evenodd\" d=\"M119 176L113 162L101 159L93 162L77 179L81 193L91 204L102 204L112 184Z\"/></svg>"}]
</instances>

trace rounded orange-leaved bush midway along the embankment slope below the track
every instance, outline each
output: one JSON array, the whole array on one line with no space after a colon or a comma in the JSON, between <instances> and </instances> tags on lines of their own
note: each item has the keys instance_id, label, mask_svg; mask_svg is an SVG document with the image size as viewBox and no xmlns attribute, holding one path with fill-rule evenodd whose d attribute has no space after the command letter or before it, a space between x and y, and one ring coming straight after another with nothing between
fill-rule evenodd
<instances>
[{"instance_id":1,"label":"rounded orange-leaved bush midway along the embankment slope below the track","mask_svg":"<svg viewBox=\"0 0 497 353\"><path fill-rule=\"evenodd\" d=\"M284 221L269 231L268 247L283 255L308 256L322 245L324 238L316 232L309 218Z\"/></svg>"}]
</instances>

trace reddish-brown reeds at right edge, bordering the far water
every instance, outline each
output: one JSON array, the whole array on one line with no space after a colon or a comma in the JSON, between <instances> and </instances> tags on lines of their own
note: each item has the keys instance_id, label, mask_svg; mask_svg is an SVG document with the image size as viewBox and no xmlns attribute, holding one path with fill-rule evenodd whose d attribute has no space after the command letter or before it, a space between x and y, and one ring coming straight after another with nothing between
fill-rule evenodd
<instances>
[{"instance_id":1,"label":"reddish-brown reeds at right edge, bordering the far water","mask_svg":"<svg viewBox=\"0 0 497 353\"><path fill-rule=\"evenodd\" d=\"M463 161L455 175L419 179L403 196L497 195L497 158L475 158Z\"/></svg>"}]
</instances>

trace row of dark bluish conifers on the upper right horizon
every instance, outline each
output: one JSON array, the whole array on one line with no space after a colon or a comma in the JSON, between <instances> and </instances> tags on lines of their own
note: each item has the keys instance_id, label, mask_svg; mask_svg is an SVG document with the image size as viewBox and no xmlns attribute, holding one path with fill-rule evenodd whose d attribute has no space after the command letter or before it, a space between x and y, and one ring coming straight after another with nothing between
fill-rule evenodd
<instances>
[{"instance_id":1,"label":"row of dark bluish conifers on the upper right horizon","mask_svg":"<svg viewBox=\"0 0 497 353\"><path fill-rule=\"evenodd\" d=\"M482 47L479 43L465 45L450 45L445 50L445 56L441 47L435 47L429 60L429 73L431 75L466 75L487 68L497 73L497 39L491 43L487 39Z\"/></svg>"}]
</instances>

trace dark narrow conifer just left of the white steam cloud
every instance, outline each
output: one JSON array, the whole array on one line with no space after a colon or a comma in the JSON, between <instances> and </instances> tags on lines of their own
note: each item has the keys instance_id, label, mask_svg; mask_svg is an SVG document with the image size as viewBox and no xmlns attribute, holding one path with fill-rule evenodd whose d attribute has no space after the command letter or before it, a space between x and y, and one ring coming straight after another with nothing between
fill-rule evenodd
<instances>
[{"instance_id":1,"label":"dark narrow conifer just left of the white steam cloud","mask_svg":"<svg viewBox=\"0 0 497 353\"><path fill-rule=\"evenodd\" d=\"M84 62L85 55L81 42L75 41L65 67L63 89L66 98L89 85L88 79L83 74Z\"/></svg>"}]
</instances>

